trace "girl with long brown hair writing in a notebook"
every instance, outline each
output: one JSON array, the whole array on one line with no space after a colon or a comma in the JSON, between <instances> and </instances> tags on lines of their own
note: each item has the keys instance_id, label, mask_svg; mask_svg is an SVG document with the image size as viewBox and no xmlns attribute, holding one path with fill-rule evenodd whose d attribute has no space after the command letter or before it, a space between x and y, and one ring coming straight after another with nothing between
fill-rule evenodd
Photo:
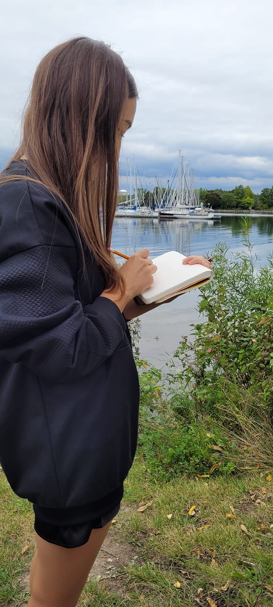
<instances>
[{"instance_id":1,"label":"girl with long brown hair writing in a notebook","mask_svg":"<svg viewBox=\"0 0 273 607\"><path fill-rule=\"evenodd\" d=\"M157 268L143 249L119 269L107 247L136 98L106 44L64 42L0 177L0 461L35 513L29 607L75 607L135 455L126 319L153 307L137 296Z\"/></svg>"}]
</instances>

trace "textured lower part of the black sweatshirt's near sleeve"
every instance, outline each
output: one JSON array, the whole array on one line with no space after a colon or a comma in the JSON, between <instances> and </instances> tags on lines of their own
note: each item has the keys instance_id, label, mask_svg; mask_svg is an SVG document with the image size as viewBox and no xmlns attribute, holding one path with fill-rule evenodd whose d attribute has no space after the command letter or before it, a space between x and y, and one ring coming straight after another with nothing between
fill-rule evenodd
<instances>
[{"instance_id":1,"label":"textured lower part of the black sweatshirt's near sleeve","mask_svg":"<svg viewBox=\"0 0 273 607\"><path fill-rule=\"evenodd\" d=\"M34 246L2 260L0 358L63 382L92 372L118 348L123 314L105 297L86 306L76 300L75 266L71 246Z\"/></svg>"}]
</instances>

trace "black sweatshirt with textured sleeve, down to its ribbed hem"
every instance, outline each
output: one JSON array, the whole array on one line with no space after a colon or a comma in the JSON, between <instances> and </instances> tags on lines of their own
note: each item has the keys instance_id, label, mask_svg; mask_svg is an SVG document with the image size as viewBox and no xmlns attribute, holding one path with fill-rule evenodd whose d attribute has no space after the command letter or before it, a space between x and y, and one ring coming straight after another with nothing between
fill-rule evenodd
<instances>
[{"instance_id":1,"label":"black sweatshirt with textured sleeve, down to its ribbed hem","mask_svg":"<svg viewBox=\"0 0 273 607\"><path fill-rule=\"evenodd\" d=\"M7 174L31 175L25 161ZM69 508L123 484L139 383L119 308L44 186L0 186L0 463L17 495Z\"/></svg>"}]
</instances>

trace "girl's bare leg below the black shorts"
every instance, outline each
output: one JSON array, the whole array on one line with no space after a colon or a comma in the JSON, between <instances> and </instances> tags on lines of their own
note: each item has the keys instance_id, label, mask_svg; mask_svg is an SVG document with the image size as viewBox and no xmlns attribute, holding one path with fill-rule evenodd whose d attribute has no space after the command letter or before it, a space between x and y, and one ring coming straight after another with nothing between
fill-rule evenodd
<instances>
[{"instance_id":1,"label":"girl's bare leg below the black shorts","mask_svg":"<svg viewBox=\"0 0 273 607\"><path fill-rule=\"evenodd\" d=\"M93 529L79 548L61 548L36 534L28 607L75 607L111 523Z\"/></svg>"}]
</instances>

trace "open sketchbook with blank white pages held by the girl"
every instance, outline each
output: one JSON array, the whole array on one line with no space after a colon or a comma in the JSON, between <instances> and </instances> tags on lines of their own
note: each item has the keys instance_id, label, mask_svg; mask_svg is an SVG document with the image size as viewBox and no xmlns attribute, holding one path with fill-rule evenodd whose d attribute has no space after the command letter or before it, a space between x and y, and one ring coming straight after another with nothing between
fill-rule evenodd
<instances>
[{"instance_id":1,"label":"open sketchbook with blank white pages held by the girl","mask_svg":"<svg viewBox=\"0 0 273 607\"><path fill-rule=\"evenodd\" d=\"M144 304L163 302L175 295L197 289L212 280L214 273L197 263L183 265L186 256L177 251L169 251L153 259L157 272L153 274L153 284L140 294Z\"/></svg>"}]
</instances>

